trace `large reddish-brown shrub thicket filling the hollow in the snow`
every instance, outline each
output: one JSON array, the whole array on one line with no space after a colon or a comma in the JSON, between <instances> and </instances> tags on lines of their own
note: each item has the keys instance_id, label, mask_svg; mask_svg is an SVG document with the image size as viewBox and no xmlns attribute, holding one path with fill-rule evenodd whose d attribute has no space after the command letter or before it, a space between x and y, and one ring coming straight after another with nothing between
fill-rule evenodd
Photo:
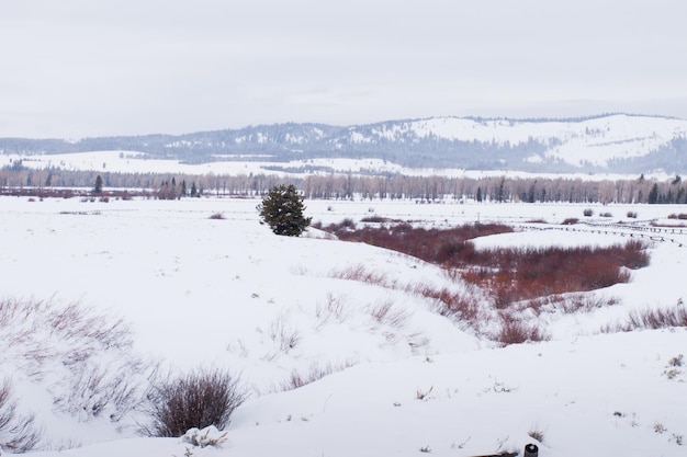
<instances>
[{"instance_id":1,"label":"large reddish-brown shrub thicket filling the hollow in the snow","mask_svg":"<svg viewBox=\"0 0 687 457\"><path fill-rule=\"evenodd\" d=\"M334 272L334 277L421 296L433 304L436 312L465 322L477 332L485 327L485 319L495 316L499 330L488 336L504 345L549 339L543 328L526 321L525 311L534 316L589 312L616 305L617 298L587 293L629 282L631 271L650 261L647 244L634 239L609 247L475 249L471 239L513 231L497 224L439 230L407 222L357 228L347 220L324 230L340 240L365 242L438 264L463 287L399 284L363 265Z\"/></svg>"}]
</instances>

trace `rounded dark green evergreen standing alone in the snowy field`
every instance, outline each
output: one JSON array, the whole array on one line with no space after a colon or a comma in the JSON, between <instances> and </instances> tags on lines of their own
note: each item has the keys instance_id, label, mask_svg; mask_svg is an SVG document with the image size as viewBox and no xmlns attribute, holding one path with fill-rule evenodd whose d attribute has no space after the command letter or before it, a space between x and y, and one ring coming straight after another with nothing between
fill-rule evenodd
<instances>
[{"instance_id":1,"label":"rounded dark green evergreen standing alone in the snowy field","mask_svg":"<svg viewBox=\"0 0 687 457\"><path fill-rule=\"evenodd\" d=\"M261 222L277 235L297 237L311 225L312 217L303 216L305 206L293 184L275 185L257 207Z\"/></svg>"}]
</instances>

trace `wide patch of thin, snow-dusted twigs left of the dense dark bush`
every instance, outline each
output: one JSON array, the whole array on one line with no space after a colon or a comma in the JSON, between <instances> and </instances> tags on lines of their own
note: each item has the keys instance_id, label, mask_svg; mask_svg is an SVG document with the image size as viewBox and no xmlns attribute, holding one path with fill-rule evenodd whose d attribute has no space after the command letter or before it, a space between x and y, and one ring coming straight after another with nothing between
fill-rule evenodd
<instances>
[{"instance_id":1,"label":"wide patch of thin, snow-dusted twigs left of the dense dark bush","mask_svg":"<svg viewBox=\"0 0 687 457\"><path fill-rule=\"evenodd\" d=\"M122 319L71 304L0 300L0 353L34 382L55 378L53 408L89 421L132 412L153 365L133 353Z\"/></svg>"}]
</instances>

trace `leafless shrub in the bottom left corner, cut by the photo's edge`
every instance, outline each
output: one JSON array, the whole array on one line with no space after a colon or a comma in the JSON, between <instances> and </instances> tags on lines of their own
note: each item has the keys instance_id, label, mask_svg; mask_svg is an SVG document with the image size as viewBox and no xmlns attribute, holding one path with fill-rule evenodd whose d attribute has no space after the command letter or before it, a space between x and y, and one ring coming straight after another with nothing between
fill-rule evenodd
<instances>
[{"instance_id":1,"label":"leafless shrub in the bottom left corner, cut by the photo's edge","mask_svg":"<svg viewBox=\"0 0 687 457\"><path fill-rule=\"evenodd\" d=\"M12 400L9 381L0 386L0 449L22 454L36 447L42 432L36 429L33 415L21 415Z\"/></svg>"}]
</instances>

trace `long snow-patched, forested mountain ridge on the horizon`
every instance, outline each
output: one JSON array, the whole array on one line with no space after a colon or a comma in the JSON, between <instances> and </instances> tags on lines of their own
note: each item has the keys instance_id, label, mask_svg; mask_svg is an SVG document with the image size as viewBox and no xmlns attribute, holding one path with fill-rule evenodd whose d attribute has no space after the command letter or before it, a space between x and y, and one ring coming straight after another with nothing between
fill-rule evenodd
<instances>
[{"instance_id":1,"label":"long snow-patched, forested mountain ridge on the horizon","mask_svg":"<svg viewBox=\"0 0 687 457\"><path fill-rule=\"evenodd\" d=\"M139 151L184 163L370 158L423 169L680 174L687 172L687 121L629 114L571 119L432 117L76 141L0 138L2 153L20 156L101 150Z\"/></svg>"}]
</instances>

